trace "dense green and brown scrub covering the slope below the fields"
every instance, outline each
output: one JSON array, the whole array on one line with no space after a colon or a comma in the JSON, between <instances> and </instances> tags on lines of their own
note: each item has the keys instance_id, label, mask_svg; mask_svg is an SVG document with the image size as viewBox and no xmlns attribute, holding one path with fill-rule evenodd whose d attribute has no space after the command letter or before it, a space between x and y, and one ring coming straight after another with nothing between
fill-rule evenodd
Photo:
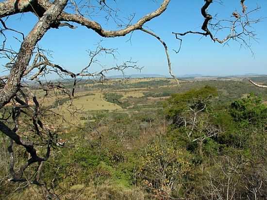
<instances>
[{"instance_id":1,"label":"dense green and brown scrub covering the slope below the fields","mask_svg":"<svg viewBox=\"0 0 267 200\"><path fill-rule=\"evenodd\" d=\"M61 128L59 136L66 142L51 150L42 180L63 200L265 199L267 92L253 88L252 94L243 82L235 98L227 99L239 83L216 83L182 83L184 92L167 99L151 97L144 89L144 97L124 97L127 90L117 88L105 92L110 103L135 106L87 110L80 127ZM154 90L162 94L162 88ZM0 199L42 199L40 187L7 180L8 139L1 136L0 143ZM25 151L14 152L19 163L27 160Z\"/></svg>"}]
</instances>

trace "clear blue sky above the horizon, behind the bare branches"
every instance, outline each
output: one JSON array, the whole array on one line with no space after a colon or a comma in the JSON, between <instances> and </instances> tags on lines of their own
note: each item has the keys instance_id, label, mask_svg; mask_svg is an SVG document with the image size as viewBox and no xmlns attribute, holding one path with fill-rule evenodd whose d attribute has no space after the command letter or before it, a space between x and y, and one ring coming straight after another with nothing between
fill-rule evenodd
<instances>
[{"instance_id":1,"label":"clear blue sky above the horizon, behind the bare branches","mask_svg":"<svg viewBox=\"0 0 267 200\"><path fill-rule=\"evenodd\" d=\"M113 0L107 0L107 3L109 2L114 6ZM156 2L154 0L117 0L116 6L120 9L120 16L126 17L135 13L135 22L139 17L155 10L161 2L162 0ZM200 8L203 2L203 0L171 0L167 11L162 16L146 24L167 43L174 74L177 76L196 73L203 75L267 74L267 19L253 26L256 37L259 38L257 42L251 41L254 57L250 50L240 48L237 42L231 41L229 46L224 46L201 35L184 36L180 53L176 54L172 51L179 48L179 41L175 39L172 32L201 31L203 17L200 14ZM253 15L254 18L267 17L267 0L246 0L245 2L249 10L257 5L261 6L261 10ZM212 15L218 14L218 18L229 18L234 10L241 10L239 0L223 0L223 5L213 3L208 12ZM117 29L112 20L106 23L99 16L93 19L102 24L105 29ZM7 26L28 33L36 20L33 14L19 14L10 17ZM225 35L226 33L218 36ZM116 60L106 56L99 57L103 65L112 66L132 58L139 66L144 67L143 74L168 75L164 49L155 38L140 31L133 33L131 42L128 41L129 38L130 35L102 38L94 31L81 26L75 30L61 27L49 30L39 42L39 46L53 51L51 60L54 63L78 72L88 62L86 50L94 50L96 43L103 40L102 46L118 50ZM18 48L15 41L10 39L9 45ZM138 72L130 70L127 73Z\"/></svg>"}]
</instances>

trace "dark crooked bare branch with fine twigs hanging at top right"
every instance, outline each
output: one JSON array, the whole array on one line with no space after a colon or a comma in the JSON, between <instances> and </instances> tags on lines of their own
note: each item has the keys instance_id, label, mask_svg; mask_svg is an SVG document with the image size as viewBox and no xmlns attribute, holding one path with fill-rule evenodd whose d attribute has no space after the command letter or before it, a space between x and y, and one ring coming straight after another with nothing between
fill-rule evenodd
<instances>
[{"instance_id":1,"label":"dark crooked bare branch with fine twigs hanging at top right","mask_svg":"<svg viewBox=\"0 0 267 200\"><path fill-rule=\"evenodd\" d=\"M251 49L250 40L254 40L255 32L252 29L252 25L259 23L262 18L252 19L250 14L258 11L260 7L256 7L252 10L247 9L245 5L245 0L241 0L241 12L234 11L230 19L217 19L207 12L207 9L210 7L211 3L214 0L205 0L205 4L201 8L201 15L204 17L201 30L203 32L193 32L187 31L184 33L175 33L177 39L180 39L179 36L184 36L186 34L199 34L203 36L209 36L213 42L218 42L220 44L227 44L229 41L234 40L240 43L241 46L245 46ZM222 0L219 0L218 3L223 3ZM217 38L216 34L218 32L223 32L226 36L222 39Z\"/></svg>"}]
</instances>

